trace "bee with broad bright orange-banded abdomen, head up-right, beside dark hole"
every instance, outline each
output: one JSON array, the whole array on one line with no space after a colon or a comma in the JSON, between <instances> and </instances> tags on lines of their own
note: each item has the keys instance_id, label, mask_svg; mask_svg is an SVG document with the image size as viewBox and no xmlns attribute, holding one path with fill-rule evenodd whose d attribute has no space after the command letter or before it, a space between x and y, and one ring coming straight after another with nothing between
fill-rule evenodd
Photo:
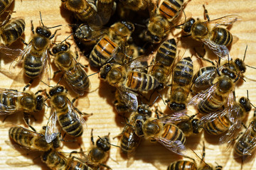
<instances>
[{"instance_id":1,"label":"bee with broad bright orange-banded abdomen, head up-right, beside dark hole","mask_svg":"<svg viewBox=\"0 0 256 170\"><path fill-rule=\"evenodd\" d=\"M117 49L124 45L124 42L129 39L133 30L134 25L132 23L126 21L114 23L109 29L110 33L103 35L95 47L93 47L89 56L90 66L102 67L103 64L110 62L116 52L119 52Z\"/></svg>"}]
</instances>

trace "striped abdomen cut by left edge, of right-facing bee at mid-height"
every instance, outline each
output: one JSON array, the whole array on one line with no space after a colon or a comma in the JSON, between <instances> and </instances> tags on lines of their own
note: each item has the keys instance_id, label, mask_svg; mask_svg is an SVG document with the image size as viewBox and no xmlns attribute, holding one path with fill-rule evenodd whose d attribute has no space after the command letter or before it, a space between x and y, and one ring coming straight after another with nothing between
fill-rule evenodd
<instances>
[{"instance_id":1,"label":"striped abdomen cut by left edge, of right-facing bee at mid-height","mask_svg":"<svg viewBox=\"0 0 256 170\"><path fill-rule=\"evenodd\" d=\"M18 107L17 97L14 97L13 93L1 93L0 94L0 113L14 113Z\"/></svg>"}]
</instances>

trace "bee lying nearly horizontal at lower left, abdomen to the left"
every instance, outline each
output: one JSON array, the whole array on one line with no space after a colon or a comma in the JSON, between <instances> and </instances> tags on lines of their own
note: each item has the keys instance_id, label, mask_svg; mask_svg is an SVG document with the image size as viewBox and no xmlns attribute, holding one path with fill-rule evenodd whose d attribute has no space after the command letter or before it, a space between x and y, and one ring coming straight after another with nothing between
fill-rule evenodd
<instances>
[{"instance_id":1,"label":"bee lying nearly horizontal at lower left, abdomen to the left","mask_svg":"<svg viewBox=\"0 0 256 170\"><path fill-rule=\"evenodd\" d=\"M43 133L34 132L26 128L22 128L21 126L10 128L9 137L18 145L30 150L46 152L49 149L60 147L60 140L58 137L56 137L52 142L46 142L46 137Z\"/></svg>"}]
</instances>

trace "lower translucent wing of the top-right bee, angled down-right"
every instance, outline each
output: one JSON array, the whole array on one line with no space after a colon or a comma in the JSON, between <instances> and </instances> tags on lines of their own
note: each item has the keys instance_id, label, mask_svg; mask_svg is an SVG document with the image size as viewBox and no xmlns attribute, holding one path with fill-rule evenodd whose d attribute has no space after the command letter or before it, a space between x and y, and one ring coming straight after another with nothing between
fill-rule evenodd
<instances>
[{"instance_id":1,"label":"lower translucent wing of the top-right bee, angled down-right","mask_svg":"<svg viewBox=\"0 0 256 170\"><path fill-rule=\"evenodd\" d=\"M212 50L215 53L215 55L217 55L221 59L230 60L229 50L228 50L228 47L226 47L225 45L215 44L213 41L209 40L208 38L201 38L201 41L205 45L207 45L210 48L210 50Z\"/></svg>"}]
</instances>

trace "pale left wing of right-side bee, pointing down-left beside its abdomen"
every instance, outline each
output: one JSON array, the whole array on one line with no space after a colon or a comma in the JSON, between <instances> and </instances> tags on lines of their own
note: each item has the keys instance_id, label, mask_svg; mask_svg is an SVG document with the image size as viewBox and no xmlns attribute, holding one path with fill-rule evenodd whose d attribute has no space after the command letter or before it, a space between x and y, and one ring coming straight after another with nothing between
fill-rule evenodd
<instances>
[{"instance_id":1,"label":"pale left wing of right-side bee, pointing down-left beside its abdomen","mask_svg":"<svg viewBox=\"0 0 256 170\"><path fill-rule=\"evenodd\" d=\"M216 84L213 84L213 86L210 86L205 91L201 91L199 94L191 98L191 100L188 102L188 105L196 106L198 105L199 102L206 100L206 98L209 98L210 96L212 96L216 87L217 87Z\"/></svg>"}]
</instances>

